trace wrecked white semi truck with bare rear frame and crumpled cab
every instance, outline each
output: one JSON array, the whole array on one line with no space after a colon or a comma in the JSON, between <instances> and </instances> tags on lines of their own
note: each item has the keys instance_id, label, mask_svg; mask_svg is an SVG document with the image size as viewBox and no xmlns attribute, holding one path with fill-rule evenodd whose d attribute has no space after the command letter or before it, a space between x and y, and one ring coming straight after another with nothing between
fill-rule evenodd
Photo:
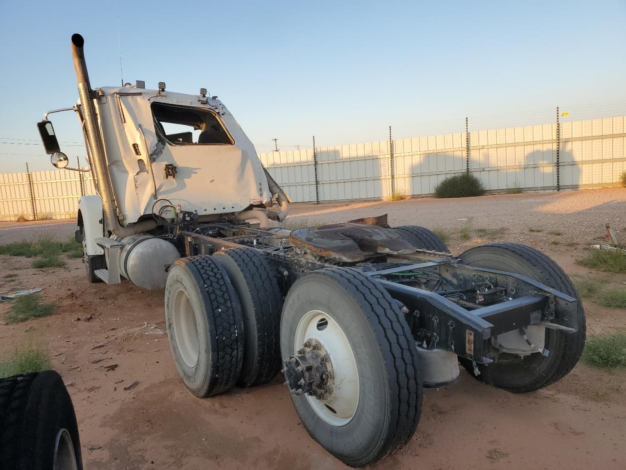
<instances>
[{"instance_id":1,"label":"wrecked white semi truck with bare rear frame and crumpled cab","mask_svg":"<svg viewBox=\"0 0 626 470\"><path fill-rule=\"evenodd\" d=\"M67 167L48 115L76 112L98 192L78 210L87 278L165 288L194 395L281 373L310 436L358 467L411 439L423 387L453 383L459 363L516 393L577 363L585 313L545 254L493 243L453 256L428 229L384 216L270 227L289 197L217 97L92 88L83 43L72 36L78 103L46 113L43 144Z\"/></svg>"}]
</instances>

